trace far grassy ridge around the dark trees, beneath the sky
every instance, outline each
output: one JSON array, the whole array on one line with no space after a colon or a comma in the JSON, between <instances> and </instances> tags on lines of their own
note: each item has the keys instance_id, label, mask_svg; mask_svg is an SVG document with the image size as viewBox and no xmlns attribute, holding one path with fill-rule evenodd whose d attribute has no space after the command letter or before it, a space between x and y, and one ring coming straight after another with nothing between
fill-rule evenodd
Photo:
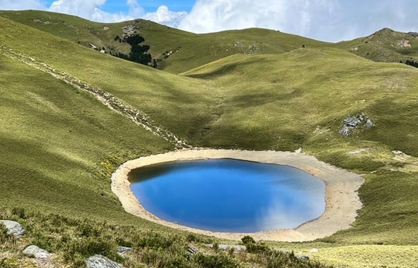
<instances>
[{"instance_id":1,"label":"far grassy ridge around the dark trees, beneath the sky","mask_svg":"<svg viewBox=\"0 0 418 268\"><path fill-rule=\"evenodd\" d=\"M134 26L150 45L150 53L162 61L158 66L168 72L180 73L219 58L237 53L283 53L302 47L324 47L325 42L266 29L245 29L220 33L194 34L172 29L155 22L137 19L130 22L104 24L79 17L45 11L0 11L1 17L72 40L80 45L116 49L123 53L130 46L115 41L124 26ZM104 29L104 27L109 29ZM167 58L164 56L167 55Z\"/></svg>"}]
</instances>

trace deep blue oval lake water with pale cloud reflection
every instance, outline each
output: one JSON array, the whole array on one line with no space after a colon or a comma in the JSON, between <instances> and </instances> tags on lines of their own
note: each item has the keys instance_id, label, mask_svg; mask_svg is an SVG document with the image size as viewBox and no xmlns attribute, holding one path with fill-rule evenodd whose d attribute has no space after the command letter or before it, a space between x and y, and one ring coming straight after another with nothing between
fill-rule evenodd
<instances>
[{"instance_id":1,"label":"deep blue oval lake water with pale cloud reflection","mask_svg":"<svg viewBox=\"0 0 418 268\"><path fill-rule=\"evenodd\" d=\"M322 180L291 166L235 159L134 169L131 189L165 221L217 232L295 228L325 211Z\"/></svg>"}]
</instances>

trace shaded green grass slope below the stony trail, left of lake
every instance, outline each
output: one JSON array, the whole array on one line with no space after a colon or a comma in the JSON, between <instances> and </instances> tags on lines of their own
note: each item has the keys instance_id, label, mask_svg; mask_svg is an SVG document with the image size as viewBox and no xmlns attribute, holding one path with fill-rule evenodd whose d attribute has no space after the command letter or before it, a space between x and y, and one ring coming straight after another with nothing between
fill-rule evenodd
<instances>
[{"instance_id":1,"label":"shaded green grass slope below the stony trail, left of lake","mask_svg":"<svg viewBox=\"0 0 418 268\"><path fill-rule=\"evenodd\" d=\"M109 161L114 169L126 159L173 146L91 95L0 58L0 204L129 218L101 163Z\"/></svg>"}]
</instances>

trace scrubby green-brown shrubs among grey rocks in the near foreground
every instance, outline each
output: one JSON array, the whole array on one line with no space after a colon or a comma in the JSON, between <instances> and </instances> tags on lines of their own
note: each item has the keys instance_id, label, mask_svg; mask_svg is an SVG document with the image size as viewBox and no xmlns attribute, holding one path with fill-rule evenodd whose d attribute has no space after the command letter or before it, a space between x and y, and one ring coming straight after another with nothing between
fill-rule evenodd
<instances>
[{"instance_id":1,"label":"scrubby green-brown shrubs among grey rocks in the near foreground","mask_svg":"<svg viewBox=\"0 0 418 268\"><path fill-rule=\"evenodd\" d=\"M245 266L235 258L234 253L227 255L222 251L215 253L201 251L196 255L187 254L189 242L186 234L144 232L141 228L132 226L115 226L102 221L73 219L60 214L25 212L25 219L20 219L16 211L2 208L0 218L15 219L24 223L27 230L22 238L25 239L24 244L35 244L58 254L60 261L63 261L62 264L69 267L84 267L84 260L95 254L107 256L125 267L146 265L159 268L240 268ZM18 211L24 212L21 208ZM121 245L132 246L133 249L123 258L117 253L117 247ZM302 263L292 255L279 254L272 249L254 252L254 255L247 260L247 264L258 264L258 267L272 267L268 266L269 262L280 263L282 268L293 268ZM315 266L315 262L312 263L314 266L306 262L306 265L300 267L325 268L325 266Z\"/></svg>"}]
</instances>

